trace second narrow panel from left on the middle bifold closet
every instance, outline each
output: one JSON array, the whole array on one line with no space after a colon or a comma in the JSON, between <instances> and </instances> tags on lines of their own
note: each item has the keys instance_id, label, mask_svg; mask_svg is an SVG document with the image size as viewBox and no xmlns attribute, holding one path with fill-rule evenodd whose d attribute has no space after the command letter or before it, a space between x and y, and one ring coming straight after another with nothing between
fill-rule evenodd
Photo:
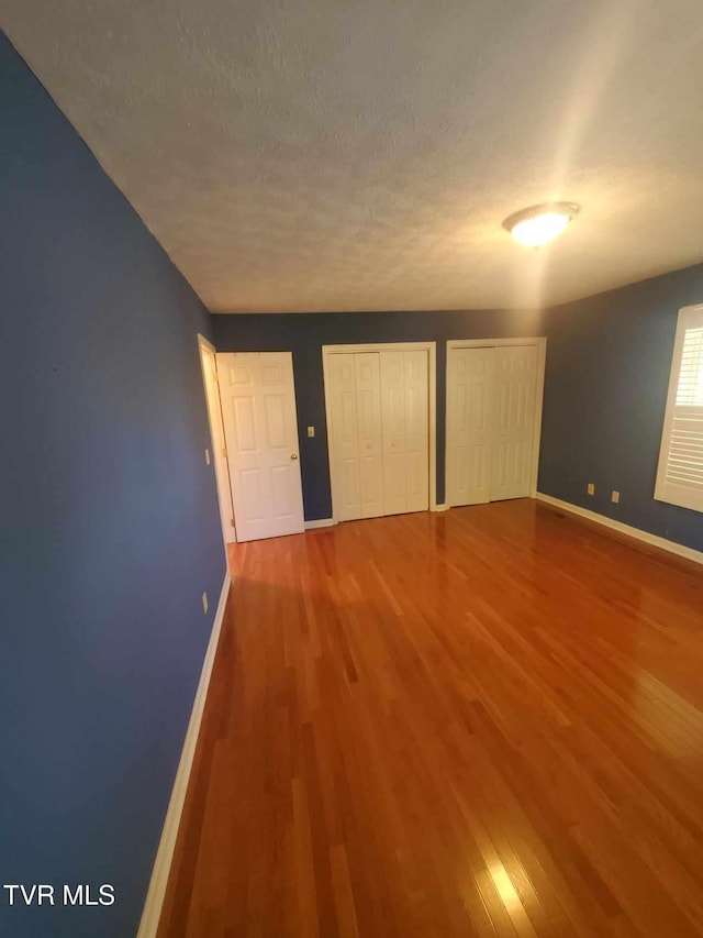
<instances>
[{"instance_id":1,"label":"second narrow panel from left on the middle bifold closet","mask_svg":"<svg viewBox=\"0 0 703 938\"><path fill-rule=\"evenodd\" d=\"M380 355L357 352L353 357L359 446L360 511L357 517L377 518L384 514Z\"/></svg>"}]
</instances>

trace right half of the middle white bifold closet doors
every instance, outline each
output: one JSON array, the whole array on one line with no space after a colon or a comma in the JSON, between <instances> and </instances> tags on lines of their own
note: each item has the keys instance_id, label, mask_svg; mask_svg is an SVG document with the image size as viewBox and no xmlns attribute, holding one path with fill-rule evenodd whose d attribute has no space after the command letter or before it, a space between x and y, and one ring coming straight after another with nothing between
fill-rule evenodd
<instances>
[{"instance_id":1,"label":"right half of the middle white bifold closet doors","mask_svg":"<svg viewBox=\"0 0 703 938\"><path fill-rule=\"evenodd\" d=\"M427 352L381 352L386 515L429 507Z\"/></svg>"}]
</instances>

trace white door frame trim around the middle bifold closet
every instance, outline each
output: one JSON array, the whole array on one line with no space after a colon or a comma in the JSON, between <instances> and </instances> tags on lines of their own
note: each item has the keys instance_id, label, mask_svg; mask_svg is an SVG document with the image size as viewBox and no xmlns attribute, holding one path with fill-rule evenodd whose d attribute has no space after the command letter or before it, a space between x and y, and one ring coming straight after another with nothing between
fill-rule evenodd
<instances>
[{"instance_id":1,"label":"white door frame trim around the middle bifold closet","mask_svg":"<svg viewBox=\"0 0 703 938\"><path fill-rule=\"evenodd\" d=\"M332 415L331 400L331 355L353 354L355 352L427 352L427 409L428 409L428 460L429 460L429 510L437 510L437 343L436 342L370 342L357 345L323 345L322 375L325 395L325 422L327 428L327 465L332 493L333 525L337 523L335 511L334 460L332 459Z\"/></svg>"}]
</instances>

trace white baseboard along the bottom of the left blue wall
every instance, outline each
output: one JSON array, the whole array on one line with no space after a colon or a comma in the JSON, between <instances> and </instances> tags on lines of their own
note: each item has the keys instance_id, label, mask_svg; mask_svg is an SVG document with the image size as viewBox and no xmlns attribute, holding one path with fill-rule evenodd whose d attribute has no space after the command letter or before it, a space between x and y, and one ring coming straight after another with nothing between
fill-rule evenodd
<instances>
[{"instance_id":1,"label":"white baseboard along the bottom of the left blue wall","mask_svg":"<svg viewBox=\"0 0 703 938\"><path fill-rule=\"evenodd\" d=\"M214 664L215 652L217 651L217 641L220 640L220 632L222 631L222 622L224 620L224 610L227 605L231 583L232 580L227 573L225 575L224 583L222 584L220 603L217 604L217 610L212 622L212 632L210 633L208 650L205 651L205 658L202 663L200 683L198 684L198 691L196 692L196 699L190 714L188 730L186 731L186 741L183 742L183 749L180 754L180 762L178 763L178 771L176 773L176 781L174 782L171 797L168 803L168 810L166 812L166 820L164 821L161 839L158 845L156 861L154 862L154 869L152 871L152 880L149 882L149 890L146 894L146 902L144 903L144 911L142 913L137 938L155 938L159 918L161 917L161 906L164 905L166 884L168 883L168 874L174 859L178 827L180 825L180 817L186 802L188 780L190 779L190 770L192 769L193 757L196 754L196 744L200 732L202 711L205 706L208 687L210 686L210 677L212 675L212 665Z\"/></svg>"}]
</instances>

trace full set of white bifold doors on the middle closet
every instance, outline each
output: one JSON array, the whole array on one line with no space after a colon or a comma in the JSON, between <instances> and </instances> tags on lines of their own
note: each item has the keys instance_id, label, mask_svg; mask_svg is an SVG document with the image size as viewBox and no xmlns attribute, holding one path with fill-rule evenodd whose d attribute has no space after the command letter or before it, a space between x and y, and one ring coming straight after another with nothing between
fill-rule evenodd
<instances>
[{"instance_id":1,"label":"full set of white bifold doors on the middle closet","mask_svg":"<svg viewBox=\"0 0 703 938\"><path fill-rule=\"evenodd\" d=\"M327 374L337 521L426 511L427 352L334 353Z\"/></svg>"}]
</instances>

